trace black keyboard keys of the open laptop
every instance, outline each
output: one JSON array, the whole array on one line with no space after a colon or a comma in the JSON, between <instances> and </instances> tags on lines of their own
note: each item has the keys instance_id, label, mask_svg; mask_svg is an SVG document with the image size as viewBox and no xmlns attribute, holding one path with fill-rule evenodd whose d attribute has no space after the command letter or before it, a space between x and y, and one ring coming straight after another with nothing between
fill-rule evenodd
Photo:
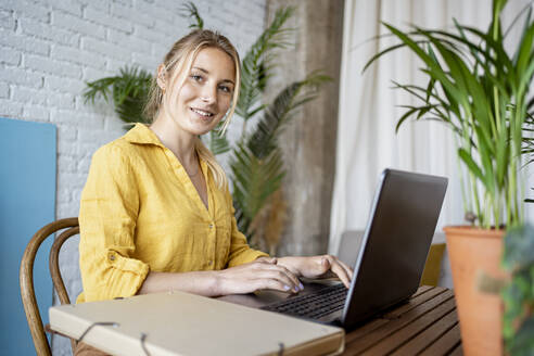
<instances>
[{"instance_id":1,"label":"black keyboard keys of the open laptop","mask_svg":"<svg viewBox=\"0 0 534 356\"><path fill-rule=\"evenodd\" d=\"M334 284L315 293L289 297L281 302L264 306L262 309L309 319L319 319L343 309L346 295L347 289L345 285Z\"/></svg>"}]
</instances>

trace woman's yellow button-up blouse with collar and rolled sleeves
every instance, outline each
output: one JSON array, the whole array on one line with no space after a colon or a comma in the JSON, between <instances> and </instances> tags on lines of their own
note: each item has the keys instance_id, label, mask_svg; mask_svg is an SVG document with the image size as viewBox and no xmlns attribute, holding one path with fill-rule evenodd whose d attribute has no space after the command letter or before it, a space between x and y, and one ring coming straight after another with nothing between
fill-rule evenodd
<instances>
[{"instance_id":1,"label":"woman's yellow button-up blouse with collar and rolled sleeves","mask_svg":"<svg viewBox=\"0 0 534 356\"><path fill-rule=\"evenodd\" d=\"M228 187L201 160L208 208L174 153L142 124L100 148L81 193L77 303L131 296L149 270L216 270L266 254L239 232Z\"/></svg>"}]
</instances>

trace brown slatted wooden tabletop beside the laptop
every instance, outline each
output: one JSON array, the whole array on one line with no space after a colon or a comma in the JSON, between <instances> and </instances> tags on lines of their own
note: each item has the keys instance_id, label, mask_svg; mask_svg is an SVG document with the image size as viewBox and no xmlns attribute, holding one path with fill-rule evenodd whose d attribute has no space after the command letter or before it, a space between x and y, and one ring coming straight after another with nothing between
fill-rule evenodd
<instances>
[{"instance_id":1,"label":"brown slatted wooden tabletop beside the laptop","mask_svg":"<svg viewBox=\"0 0 534 356\"><path fill-rule=\"evenodd\" d=\"M407 303L347 332L343 355L462 355L453 291L419 288Z\"/></svg>"}]
</instances>

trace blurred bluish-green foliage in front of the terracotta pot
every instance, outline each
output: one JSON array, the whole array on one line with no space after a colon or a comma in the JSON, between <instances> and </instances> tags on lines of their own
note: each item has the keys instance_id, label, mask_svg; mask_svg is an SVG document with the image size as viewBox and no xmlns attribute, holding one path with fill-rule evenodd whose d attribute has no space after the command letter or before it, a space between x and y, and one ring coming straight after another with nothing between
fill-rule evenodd
<instances>
[{"instance_id":1,"label":"blurred bluish-green foliage in front of the terracotta pot","mask_svg":"<svg viewBox=\"0 0 534 356\"><path fill-rule=\"evenodd\" d=\"M503 334L510 355L534 354L534 227L508 229L503 267L511 281L503 290Z\"/></svg>"}]
</instances>

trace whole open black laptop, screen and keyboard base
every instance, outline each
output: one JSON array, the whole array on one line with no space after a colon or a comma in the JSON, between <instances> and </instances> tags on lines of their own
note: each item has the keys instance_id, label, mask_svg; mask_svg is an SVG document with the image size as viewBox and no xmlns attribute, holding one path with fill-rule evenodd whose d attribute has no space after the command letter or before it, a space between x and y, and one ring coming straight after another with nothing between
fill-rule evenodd
<instances>
[{"instance_id":1,"label":"whole open black laptop, screen and keyboard base","mask_svg":"<svg viewBox=\"0 0 534 356\"><path fill-rule=\"evenodd\" d=\"M408 300L421 275L442 208L447 178L385 169L374 194L351 288L320 282L288 295L260 291L228 302L351 330Z\"/></svg>"}]
</instances>

